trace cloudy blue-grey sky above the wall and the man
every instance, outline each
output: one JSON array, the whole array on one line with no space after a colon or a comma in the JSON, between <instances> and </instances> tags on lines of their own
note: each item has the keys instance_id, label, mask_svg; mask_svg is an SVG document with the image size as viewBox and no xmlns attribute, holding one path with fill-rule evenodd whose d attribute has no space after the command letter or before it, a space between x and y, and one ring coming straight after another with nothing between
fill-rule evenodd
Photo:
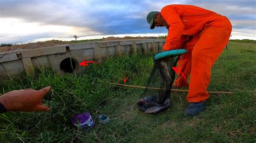
<instances>
[{"instance_id":1,"label":"cloudy blue-grey sky above the wall and the man","mask_svg":"<svg viewBox=\"0 0 256 143\"><path fill-rule=\"evenodd\" d=\"M230 19L232 39L256 40L256 0L0 0L0 44L167 34L150 30L146 15L169 4L215 11Z\"/></svg>"}]
</instances>

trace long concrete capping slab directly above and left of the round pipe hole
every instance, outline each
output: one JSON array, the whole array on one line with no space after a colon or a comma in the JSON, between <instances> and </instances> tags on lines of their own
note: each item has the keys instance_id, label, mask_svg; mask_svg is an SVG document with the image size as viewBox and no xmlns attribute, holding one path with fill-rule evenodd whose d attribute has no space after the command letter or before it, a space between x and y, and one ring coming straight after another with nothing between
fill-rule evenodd
<instances>
[{"instance_id":1,"label":"long concrete capping slab directly above and left of the round pipe hole","mask_svg":"<svg viewBox=\"0 0 256 143\"><path fill-rule=\"evenodd\" d=\"M42 56L42 55L52 55L57 53L65 53L66 46L54 46L54 47L47 47L47 48L37 48L37 49L28 49L22 51L22 58L31 58L35 56Z\"/></svg>"}]
</instances>

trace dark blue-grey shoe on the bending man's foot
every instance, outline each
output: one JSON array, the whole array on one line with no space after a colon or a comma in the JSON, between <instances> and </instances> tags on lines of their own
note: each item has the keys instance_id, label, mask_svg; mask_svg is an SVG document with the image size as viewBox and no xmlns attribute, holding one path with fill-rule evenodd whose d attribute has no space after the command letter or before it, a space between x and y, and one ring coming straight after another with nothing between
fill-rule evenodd
<instances>
[{"instance_id":1,"label":"dark blue-grey shoe on the bending man's foot","mask_svg":"<svg viewBox=\"0 0 256 143\"><path fill-rule=\"evenodd\" d=\"M205 108L204 102L191 102L190 105L188 105L187 109L185 110L185 113L187 116L196 116L199 112L203 111Z\"/></svg>"}]
</instances>

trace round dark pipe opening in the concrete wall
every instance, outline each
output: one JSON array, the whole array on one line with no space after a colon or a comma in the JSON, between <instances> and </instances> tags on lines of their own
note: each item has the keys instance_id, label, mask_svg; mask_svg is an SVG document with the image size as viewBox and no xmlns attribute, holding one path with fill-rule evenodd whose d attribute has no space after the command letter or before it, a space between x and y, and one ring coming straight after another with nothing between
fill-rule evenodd
<instances>
[{"instance_id":1,"label":"round dark pipe opening in the concrete wall","mask_svg":"<svg viewBox=\"0 0 256 143\"><path fill-rule=\"evenodd\" d=\"M64 73L73 73L76 69L78 69L78 61L73 58L66 58L60 62L59 68Z\"/></svg>"}]
</instances>

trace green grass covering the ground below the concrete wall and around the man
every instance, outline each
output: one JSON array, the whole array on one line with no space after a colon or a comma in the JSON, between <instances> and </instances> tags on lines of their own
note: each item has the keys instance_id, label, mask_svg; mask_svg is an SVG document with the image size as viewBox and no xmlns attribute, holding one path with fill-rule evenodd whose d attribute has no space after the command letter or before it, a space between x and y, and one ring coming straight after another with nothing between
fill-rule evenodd
<instances>
[{"instance_id":1,"label":"green grass covering the ground below the concrete wall and around the man","mask_svg":"<svg viewBox=\"0 0 256 143\"><path fill-rule=\"evenodd\" d=\"M89 66L83 74L57 75L37 71L35 77L2 81L0 93L14 89L41 89L51 85L44 98L51 112L7 112L0 115L0 142L255 142L256 45L230 42L212 68L208 90L234 91L211 95L206 109L186 117L186 93L172 92L171 107L156 115L142 113L136 101L142 89L117 87L109 82L143 86L153 66L152 55L111 58ZM78 112L88 111L96 126L79 130L70 123ZM97 116L111 119L99 124Z\"/></svg>"}]
</instances>

